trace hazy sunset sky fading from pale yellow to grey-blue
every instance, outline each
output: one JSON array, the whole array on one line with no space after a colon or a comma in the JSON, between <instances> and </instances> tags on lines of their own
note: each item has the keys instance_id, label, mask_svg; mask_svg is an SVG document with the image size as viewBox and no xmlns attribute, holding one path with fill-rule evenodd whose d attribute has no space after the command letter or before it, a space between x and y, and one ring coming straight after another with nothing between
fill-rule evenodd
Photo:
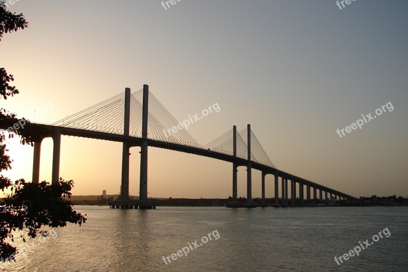
<instances>
[{"instance_id":1,"label":"hazy sunset sky fading from pale yellow to grey-blue","mask_svg":"<svg viewBox=\"0 0 408 272\"><path fill-rule=\"evenodd\" d=\"M20 90L0 106L20 117L36 111L36 122L52 123L148 84L179 121L218 103L188 129L200 144L250 123L279 169L354 196L408 194L406 0L341 10L334 0L189 0L167 10L158 0L20 0L10 10L29 28L0 42L0 66ZM337 134L389 102L393 111ZM6 176L31 180L33 148L9 142ZM43 141L41 180L51 179L52 147ZM131 149L133 195L139 151ZM121 153L121 143L63 136L60 176L74 180L73 194L118 193ZM148 156L150 197L232 195L231 163L153 147ZM252 176L259 197L261 173ZM273 176L266 181L272 197Z\"/></svg>"}]
</instances>

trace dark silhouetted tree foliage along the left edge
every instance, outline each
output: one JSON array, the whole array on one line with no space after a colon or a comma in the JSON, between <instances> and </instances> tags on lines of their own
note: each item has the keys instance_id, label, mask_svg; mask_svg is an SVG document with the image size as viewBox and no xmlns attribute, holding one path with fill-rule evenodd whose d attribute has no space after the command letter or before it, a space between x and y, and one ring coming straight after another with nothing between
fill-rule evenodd
<instances>
[{"instance_id":1,"label":"dark silhouetted tree foliage along the left edge","mask_svg":"<svg viewBox=\"0 0 408 272\"><path fill-rule=\"evenodd\" d=\"M22 14L15 14L8 11L4 6L4 1L0 0L0 41L5 33L17 31L28 27L28 22ZM8 97L18 94L14 81L4 68L0 68L0 101L7 100ZM72 210L69 201L63 197L71 197L70 190L73 181L64 181L60 178L57 184L49 184L45 181L39 184L25 182L23 179L12 182L2 175L2 171L11 169L12 159L7 154L6 137L4 131L22 120L27 124L23 129L9 130L9 138L15 135L20 137L21 144L31 144L34 141L47 135L47 132L30 126L30 121L24 118L17 118L13 113L0 108L0 188L2 191L9 190L11 193L0 205L0 260L14 260L17 252L12 245L14 238L20 237L25 242L25 235L18 234L18 231L27 230L27 238L32 239L37 234L42 234L41 227L65 227L67 222L79 224L86 221L86 218ZM86 214L85 214L86 215Z\"/></svg>"}]
</instances>

